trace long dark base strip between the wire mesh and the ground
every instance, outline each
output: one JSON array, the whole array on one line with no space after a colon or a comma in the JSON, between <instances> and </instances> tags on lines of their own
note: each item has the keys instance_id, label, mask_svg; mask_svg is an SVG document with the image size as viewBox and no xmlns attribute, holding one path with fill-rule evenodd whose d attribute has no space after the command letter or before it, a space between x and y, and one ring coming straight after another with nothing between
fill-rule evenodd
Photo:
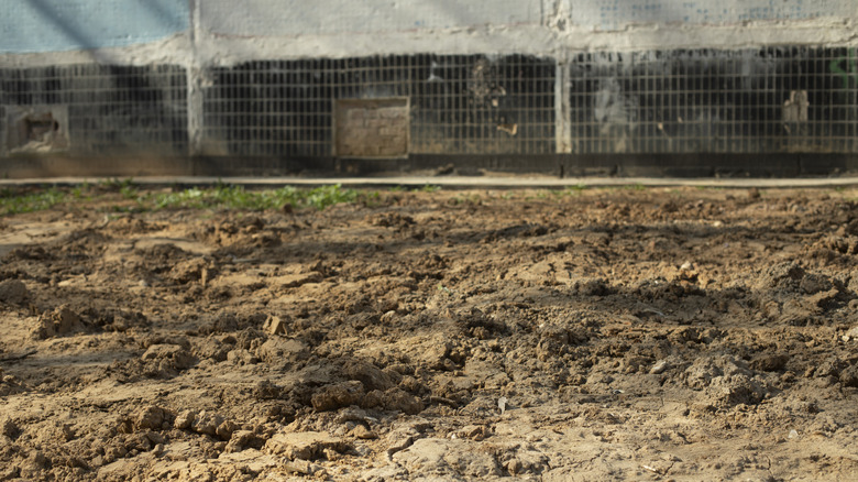
<instances>
[{"instance_id":1,"label":"long dark base strip between the wire mesh and the ground","mask_svg":"<svg viewBox=\"0 0 858 482\"><path fill-rule=\"evenodd\" d=\"M801 177L858 172L858 154L485 154L398 158L22 156L0 160L0 177L389 177L537 175L560 179L617 177ZM374 182L378 182L375 179Z\"/></svg>"}]
</instances>

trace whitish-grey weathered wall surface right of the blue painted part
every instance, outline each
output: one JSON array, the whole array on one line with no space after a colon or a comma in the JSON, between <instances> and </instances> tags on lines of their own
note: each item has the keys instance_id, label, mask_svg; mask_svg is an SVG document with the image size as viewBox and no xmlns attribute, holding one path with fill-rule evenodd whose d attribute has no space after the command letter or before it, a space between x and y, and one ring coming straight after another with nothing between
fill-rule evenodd
<instances>
[{"instance_id":1,"label":"whitish-grey weathered wall surface right of the blue painted part","mask_svg":"<svg viewBox=\"0 0 858 482\"><path fill-rule=\"evenodd\" d=\"M207 0L204 63L438 53L735 48L856 42L854 0Z\"/></svg>"}]
</instances>

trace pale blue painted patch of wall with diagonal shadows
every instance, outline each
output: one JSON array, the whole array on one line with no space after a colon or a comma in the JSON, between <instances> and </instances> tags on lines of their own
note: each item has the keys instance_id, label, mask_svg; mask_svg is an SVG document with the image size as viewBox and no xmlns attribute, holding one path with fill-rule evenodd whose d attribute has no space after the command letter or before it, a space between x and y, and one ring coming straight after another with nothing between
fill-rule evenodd
<instances>
[{"instance_id":1,"label":"pale blue painted patch of wall with diagonal shadows","mask_svg":"<svg viewBox=\"0 0 858 482\"><path fill-rule=\"evenodd\" d=\"M187 0L3 0L0 54L143 44L188 29Z\"/></svg>"}]
</instances>

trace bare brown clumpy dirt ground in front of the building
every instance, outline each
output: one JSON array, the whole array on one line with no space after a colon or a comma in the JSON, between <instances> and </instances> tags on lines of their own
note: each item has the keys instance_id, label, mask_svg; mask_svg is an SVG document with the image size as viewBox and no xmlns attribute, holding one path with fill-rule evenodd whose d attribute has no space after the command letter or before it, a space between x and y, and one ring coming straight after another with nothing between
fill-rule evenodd
<instances>
[{"instance_id":1,"label":"bare brown clumpy dirt ground in front of the building","mask_svg":"<svg viewBox=\"0 0 858 482\"><path fill-rule=\"evenodd\" d=\"M0 480L856 480L857 198L7 217Z\"/></svg>"}]
</instances>

